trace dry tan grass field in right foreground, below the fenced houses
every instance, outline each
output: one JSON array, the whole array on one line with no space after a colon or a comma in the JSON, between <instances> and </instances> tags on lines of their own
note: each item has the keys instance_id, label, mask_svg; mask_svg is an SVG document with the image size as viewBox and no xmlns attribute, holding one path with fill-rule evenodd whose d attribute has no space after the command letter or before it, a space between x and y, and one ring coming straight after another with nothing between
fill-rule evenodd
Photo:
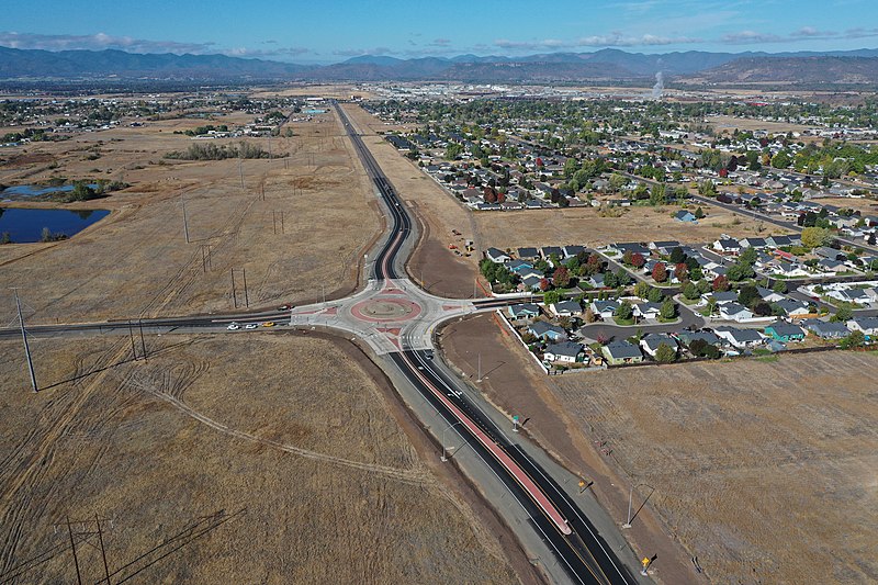
<instances>
[{"instance_id":1,"label":"dry tan grass field in right foreground, below the fenced houses","mask_svg":"<svg viewBox=\"0 0 878 585\"><path fill-rule=\"evenodd\" d=\"M554 379L717 583L878 581L878 356Z\"/></svg>"}]
</instances>

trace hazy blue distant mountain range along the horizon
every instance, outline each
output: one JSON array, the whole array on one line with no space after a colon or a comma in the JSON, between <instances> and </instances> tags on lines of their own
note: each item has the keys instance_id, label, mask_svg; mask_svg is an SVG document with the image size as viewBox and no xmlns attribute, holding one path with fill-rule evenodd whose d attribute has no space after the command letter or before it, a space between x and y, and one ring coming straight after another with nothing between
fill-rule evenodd
<instances>
[{"instance_id":1,"label":"hazy blue distant mountain range along the horizon","mask_svg":"<svg viewBox=\"0 0 878 585\"><path fill-rule=\"evenodd\" d=\"M297 65L225 55L0 47L0 79L193 81L466 81L493 83L646 81L662 71L688 83L878 83L878 49L663 55L601 49L524 57L460 55L398 59L364 55L333 65Z\"/></svg>"}]
</instances>

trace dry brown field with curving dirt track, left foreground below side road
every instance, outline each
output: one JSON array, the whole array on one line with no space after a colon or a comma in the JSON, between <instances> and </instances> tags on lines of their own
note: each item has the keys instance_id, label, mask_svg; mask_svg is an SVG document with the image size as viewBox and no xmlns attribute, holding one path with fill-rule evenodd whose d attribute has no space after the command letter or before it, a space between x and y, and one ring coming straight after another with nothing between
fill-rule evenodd
<instances>
[{"instance_id":1,"label":"dry brown field with curving dirt track, left foreground below side road","mask_svg":"<svg viewBox=\"0 0 878 585\"><path fill-rule=\"evenodd\" d=\"M435 448L349 344L147 342L148 362L119 363L124 337L34 340L55 384L36 395L20 345L0 342L3 582L72 582L66 519L95 515L113 582L516 581L516 547L448 487L461 480L425 457ZM103 564L83 528L97 525L74 526L90 583Z\"/></svg>"}]
</instances>

